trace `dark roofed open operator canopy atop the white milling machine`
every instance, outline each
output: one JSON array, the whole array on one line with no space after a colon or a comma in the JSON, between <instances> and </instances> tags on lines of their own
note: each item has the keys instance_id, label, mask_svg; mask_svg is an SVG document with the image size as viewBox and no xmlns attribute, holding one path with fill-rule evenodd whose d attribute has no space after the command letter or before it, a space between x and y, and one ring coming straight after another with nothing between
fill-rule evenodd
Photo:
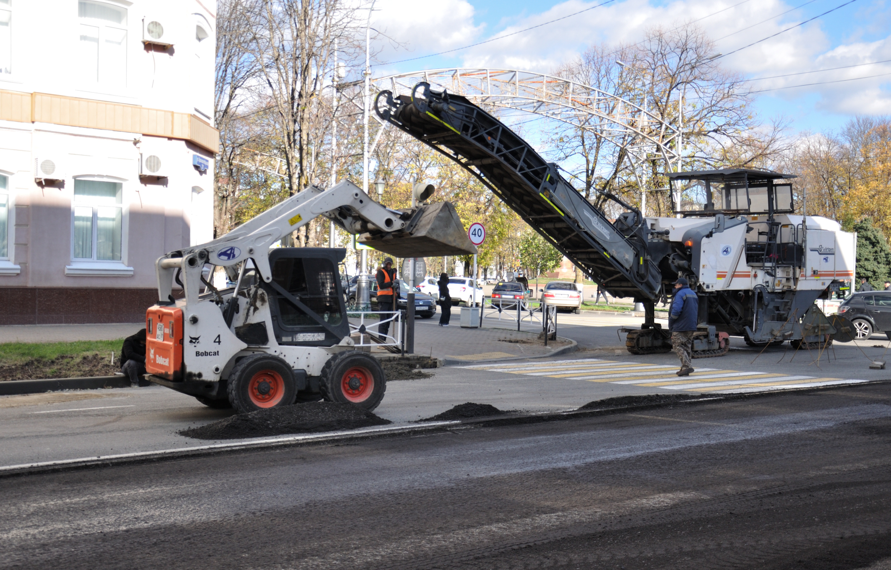
<instances>
[{"instance_id":1,"label":"dark roofed open operator canopy atop the white milling machine","mask_svg":"<svg viewBox=\"0 0 891 570\"><path fill-rule=\"evenodd\" d=\"M684 218L715 214L792 213L792 174L772 170L723 169L670 172L672 207Z\"/></svg>"}]
</instances>

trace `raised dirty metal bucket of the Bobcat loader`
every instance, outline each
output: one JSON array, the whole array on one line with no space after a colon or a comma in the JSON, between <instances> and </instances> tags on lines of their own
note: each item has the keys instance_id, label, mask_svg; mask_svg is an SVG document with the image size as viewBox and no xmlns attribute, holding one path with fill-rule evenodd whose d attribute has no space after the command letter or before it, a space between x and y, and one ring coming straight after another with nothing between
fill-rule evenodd
<instances>
[{"instance_id":1,"label":"raised dirty metal bucket of the Bobcat loader","mask_svg":"<svg viewBox=\"0 0 891 570\"><path fill-rule=\"evenodd\" d=\"M379 252L396 257L436 257L476 253L461 218L450 202L421 206L405 231L384 235L363 234L358 240Z\"/></svg>"}]
</instances>

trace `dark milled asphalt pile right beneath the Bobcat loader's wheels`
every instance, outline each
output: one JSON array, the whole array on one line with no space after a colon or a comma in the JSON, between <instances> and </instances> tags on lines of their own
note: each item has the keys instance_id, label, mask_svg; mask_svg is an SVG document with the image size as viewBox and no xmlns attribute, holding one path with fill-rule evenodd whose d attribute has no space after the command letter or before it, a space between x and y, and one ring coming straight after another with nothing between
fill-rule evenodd
<instances>
[{"instance_id":1,"label":"dark milled asphalt pile right beneath the Bobcat loader's wheels","mask_svg":"<svg viewBox=\"0 0 891 570\"><path fill-rule=\"evenodd\" d=\"M235 440L269 435L335 432L389 423L391 422L388 419L377 417L353 404L308 401L226 417L212 424L182 430L179 434L200 440Z\"/></svg>"}]
</instances>

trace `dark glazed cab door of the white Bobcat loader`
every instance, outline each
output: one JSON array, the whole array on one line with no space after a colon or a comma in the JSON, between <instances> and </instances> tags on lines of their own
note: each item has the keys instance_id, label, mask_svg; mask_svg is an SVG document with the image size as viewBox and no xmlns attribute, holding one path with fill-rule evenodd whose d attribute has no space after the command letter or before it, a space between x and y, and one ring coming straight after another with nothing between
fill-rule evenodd
<instances>
[{"instance_id":1,"label":"dark glazed cab door of the white Bobcat loader","mask_svg":"<svg viewBox=\"0 0 891 570\"><path fill-rule=\"evenodd\" d=\"M337 270L345 253L302 247L269 254L273 281L265 289L279 344L331 346L349 335Z\"/></svg>"}]
</instances>

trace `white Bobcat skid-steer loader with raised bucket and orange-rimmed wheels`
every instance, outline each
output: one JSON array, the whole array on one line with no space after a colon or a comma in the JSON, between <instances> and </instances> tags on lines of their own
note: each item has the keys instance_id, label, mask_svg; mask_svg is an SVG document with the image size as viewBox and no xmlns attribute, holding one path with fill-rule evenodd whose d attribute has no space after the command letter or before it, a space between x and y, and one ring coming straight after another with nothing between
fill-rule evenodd
<instances>
[{"instance_id":1,"label":"white Bobcat skid-steer loader with raised bucket and orange-rimmed wheels","mask_svg":"<svg viewBox=\"0 0 891 570\"><path fill-rule=\"evenodd\" d=\"M386 378L350 337L338 270L346 250L274 247L316 216L399 257L476 253L448 202L396 211L346 180L309 186L217 240L159 258L146 377L240 412L320 398L376 408ZM217 290L203 277L208 264L235 285Z\"/></svg>"}]
</instances>

